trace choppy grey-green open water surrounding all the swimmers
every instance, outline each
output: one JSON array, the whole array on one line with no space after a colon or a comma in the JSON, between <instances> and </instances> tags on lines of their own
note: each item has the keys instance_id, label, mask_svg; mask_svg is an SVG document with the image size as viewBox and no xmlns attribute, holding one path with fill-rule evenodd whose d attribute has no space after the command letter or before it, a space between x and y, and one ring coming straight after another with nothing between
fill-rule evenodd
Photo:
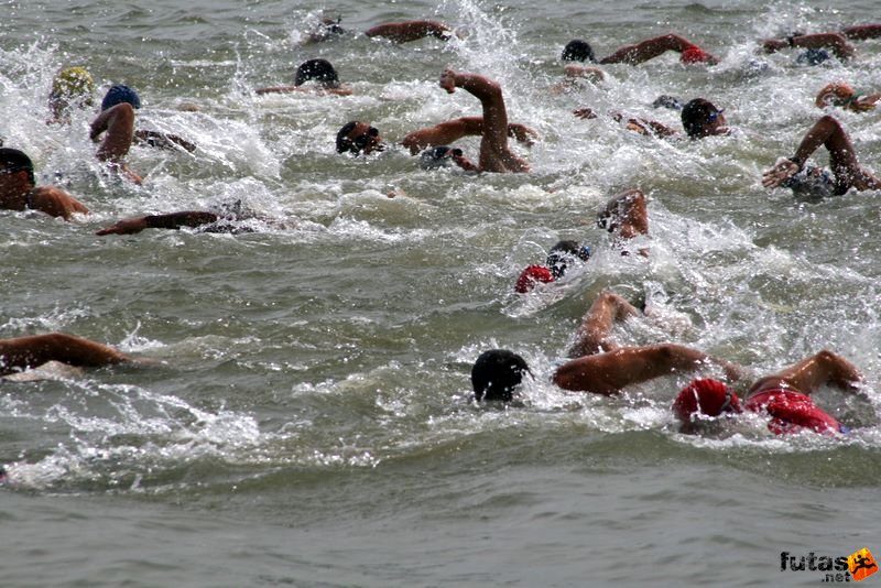
<instances>
[{"instance_id":1,"label":"choppy grey-green open water surrounding all the swimmers","mask_svg":"<svg viewBox=\"0 0 881 588\"><path fill-rule=\"evenodd\" d=\"M301 44L322 13L351 33ZM820 116L822 86L881 90L881 41L817 67L757 43L879 17L874 0L0 2L0 135L91 209L69 224L0 214L0 336L63 330L159 362L0 383L3 585L814 586L825 573L781 570L782 552L881 555L881 194L805 203L760 183ZM359 34L415 18L463 36ZM665 55L548 91L570 39L606 55L667 32L721 64ZM354 95L254 94L312 57ZM144 185L107 181L94 111L45 124L69 65L101 90L137 88L140 128L198 149L134 148ZM530 174L425 172L400 148L335 153L349 120L394 142L479 113L437 86L447 66L497 79L511 120L539 131L516 148ZM572 116L678 128L649 106L661 94L709 98L739 132L664 141ZM836 116L881 172L881 112ZM476 140L459 146L476 157ZM631 186L651 198L648 260L592 224ZM94 235L237 202L253 232ZM562 238L594 258L515 295L520 270ZM623 342L674 340L755 374L845 355L864 394L817 399L853 433L776 438L744 418L681 435L668 405L687 375L616 399L555 389L553 362L603 288L659 309L623 325ZM490 347L532 364L522 405L470 402L470 364Z\"/></svg>"}]
</instances>

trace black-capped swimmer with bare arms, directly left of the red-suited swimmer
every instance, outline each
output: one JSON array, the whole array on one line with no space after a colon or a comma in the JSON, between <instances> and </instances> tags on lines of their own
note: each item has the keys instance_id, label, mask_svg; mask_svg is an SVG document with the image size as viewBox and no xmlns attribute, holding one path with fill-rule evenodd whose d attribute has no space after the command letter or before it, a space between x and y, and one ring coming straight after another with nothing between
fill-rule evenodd
<instances>
[{"instance_id":1,"label":"black-capped swimmer with bare arms, directly left of the red-suited swimmer","mask_svg":"<svg viewBox=\"0 0 881 588\"><path fill-rule=\"evenodd\" d=\"M603 292L590 306L569 349L568 361L559 366L553 382L572 392L611 396L629 385L663 375L693 372L710 367L727 378L740 378L740 367L715 359L703 351L676 344L619 346L610 335L616 322L640 315L621 296ZM471 385L479 401L510 402L524 373L526 361L505 349L482 352L471 368Z\"/></svg>"}]
</instances>

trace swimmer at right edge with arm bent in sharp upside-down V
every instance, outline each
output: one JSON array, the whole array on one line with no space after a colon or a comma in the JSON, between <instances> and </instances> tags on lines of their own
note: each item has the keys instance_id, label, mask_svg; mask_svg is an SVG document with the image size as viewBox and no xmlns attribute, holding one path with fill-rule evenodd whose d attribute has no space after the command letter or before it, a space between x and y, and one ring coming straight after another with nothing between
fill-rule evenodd
<instances>
[{"instance_id":1,"label":"swimmer at right edge with arm bent in sharp upside-down V","mask_svg":"<svg viewBox=\"0 0 881 588\"><path fill-rule=\"evenodd\" d=\"M820 145L829 152L831 173L808 163ZM795 155L781 157L762 174L765 188L792 188L796 196L811 199L841 196L851 187L857 190L881 189L881 179L860 167L857 153L841 123L826 115L805 134Z\"/></svg>"}]
</instances>

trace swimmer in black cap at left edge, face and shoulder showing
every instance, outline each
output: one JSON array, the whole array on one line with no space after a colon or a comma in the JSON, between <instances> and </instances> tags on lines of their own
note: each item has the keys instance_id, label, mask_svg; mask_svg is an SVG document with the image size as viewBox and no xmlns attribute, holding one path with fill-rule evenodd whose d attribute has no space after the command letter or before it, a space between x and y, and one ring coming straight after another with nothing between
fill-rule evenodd
<instances>
[{"instance_id":1,"label":"swimmer in black cap at left edge, face and shoulder showing","mask_svg":"<svg viewBox=\"0 0 881 588\"><path fill-rule=\"evenodd\" d=\"M31 159L18 149L0 148L0 208L40 210L70 220L75 214L87 215L88 208L55 186L36 186Z\"/></svg>"}]
</instances>

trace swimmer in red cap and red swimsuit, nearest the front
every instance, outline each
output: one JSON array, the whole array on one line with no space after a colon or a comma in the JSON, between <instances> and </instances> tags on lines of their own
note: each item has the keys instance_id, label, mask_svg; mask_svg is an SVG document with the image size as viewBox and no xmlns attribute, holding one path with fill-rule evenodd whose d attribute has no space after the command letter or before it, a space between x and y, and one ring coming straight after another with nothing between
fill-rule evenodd
<instances>
[{"instance_id":1,"label":"swimmer in red cap and red swimsuit, nearest the front","mask_svg":"<svg viewBox=\"0 0 881 588\"><path fill-rule=\"evenodd\" d=\"M682 423L683 433L698 432L708 416L737 414L746 409L769 416L768 428L775 435L802 431L835 435L847 433L848 427L817 406L811 393L822 385L855 392L862 381L856 366L837 353L823 350L757 380L742 405L724 382L694 380L679 391L673 412Z\"/></svg>"}]
</instances>

